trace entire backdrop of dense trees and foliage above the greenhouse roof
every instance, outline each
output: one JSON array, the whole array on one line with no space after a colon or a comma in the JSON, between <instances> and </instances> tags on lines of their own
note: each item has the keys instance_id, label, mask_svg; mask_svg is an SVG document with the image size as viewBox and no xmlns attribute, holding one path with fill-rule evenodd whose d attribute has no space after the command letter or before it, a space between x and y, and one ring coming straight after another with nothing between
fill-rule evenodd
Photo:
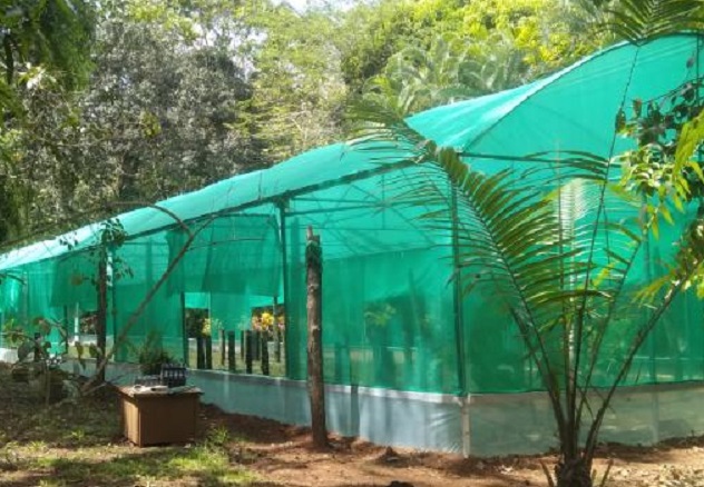
<instances>
[{"instance_id":1,"label":"entire backdrop of dense trees and foliage above the greenhouse roof","mask_svg":"<svg viewBox=\"0 0 704 487\"><path fill-rule=\"evenodd\" d=\"M559 0L51 0L0 8L0 242L534 79L605 39Z\"/></svg>"}]
</instances>

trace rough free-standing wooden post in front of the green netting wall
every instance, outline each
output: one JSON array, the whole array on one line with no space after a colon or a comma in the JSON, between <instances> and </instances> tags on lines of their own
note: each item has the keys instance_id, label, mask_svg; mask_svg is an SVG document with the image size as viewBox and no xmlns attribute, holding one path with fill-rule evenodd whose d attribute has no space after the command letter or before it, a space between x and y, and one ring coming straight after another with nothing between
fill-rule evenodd
<instances>
[{"instance_id":1,"label":"rough free-standing wooden post in front of the green netting wall","mask_svg":"<svg viewBox=\"0 0 704 487\"><path fill-rule=\"evenodd\" d=\"M307 379L311 400L311 427L313 446L327 448L327 428L325 426L325 384L323 380L323 324L322 324L322 276L323 254L320 236L307 228L305 245L305 268L307 285Z\"/></svg>"}]
</instances>

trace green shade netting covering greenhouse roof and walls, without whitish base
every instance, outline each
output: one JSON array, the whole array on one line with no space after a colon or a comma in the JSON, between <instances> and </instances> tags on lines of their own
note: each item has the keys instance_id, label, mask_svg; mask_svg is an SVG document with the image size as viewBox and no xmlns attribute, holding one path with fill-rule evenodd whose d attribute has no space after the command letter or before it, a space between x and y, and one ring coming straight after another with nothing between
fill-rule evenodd
<instances>
[{"instance_id":1,"label":"green shade netting covering greenhouse roof and walls, without whitish base","mask_svg":"<svg viewBox=\"0 0 704 487\"><path fill-rule=\"evenodd\" d=\"M641 47L619 44L530 85L429 110L409 123L460 150L467 163L486 173L525 168L526 157L536 153L551 160L556 171L564 151L610 158L633 148L615 133L619 107L657 99L700 78L700 43L696 36L681 34ZM286 314L285 375L305 379L310 226L323 246L329 382L452 394L540 389L518 330L490 285L456 299L451 238L419 221L429 210L449 212L449 199L444 207L426 208L400 198L405 183L429 177L407 156L392 146L332 145L118 216L127 241L110 249L108 334L124 334L131 346L117 358L135 360L156 332L175 358L185 360L184 308L207 307L239 340L253 312L276 304ZM442 188L440 175L430 177L440 178L434 182ZM589 199L588 189L575 193L576 200ZM569 211L576 225L596 218L579 208ZM608 219L622 221L634 211L609 197ZM95 309L91 285L78 276L94 276L89 251L100 231L96 222L0 256L0 272L26 279L25 285L0 282L4 318L30 324L33 316L66 316L76 305ZM629 289L662 272L677 231L663 228L661 238L641 250ZM596 261L606 265L606 249L619 237L599 230L597 238ZM144 311L133 317L156 285ZM610 357L624 352L633 329L628 322L643 318L626 301L619 309L617 326L605 338L608 352L597 365L597 384L614 378ZM625 384L703 380L702 330L701 302L690 294L677 298Z\"/></svg>"}]
</instances>

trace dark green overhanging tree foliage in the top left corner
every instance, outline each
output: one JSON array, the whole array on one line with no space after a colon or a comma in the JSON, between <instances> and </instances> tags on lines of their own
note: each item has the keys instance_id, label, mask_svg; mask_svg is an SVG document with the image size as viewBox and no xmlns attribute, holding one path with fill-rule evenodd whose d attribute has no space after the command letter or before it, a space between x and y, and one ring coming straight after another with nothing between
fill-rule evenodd
<instances>
[{"instance_id":1,"label":"dark green overhanging tree foliage in the top left corner","mask_svg":"<svg viewBox=\"0 0 704 487\"><path fill-rule=\"evenodd\" d=\"M26 195L13 170L28 91L47 73L62 89L80 87L90 68L92 32L88 1L21 0L0 8L0 242L21 233L26 222Z\"/></svg>"}]
</instances>

